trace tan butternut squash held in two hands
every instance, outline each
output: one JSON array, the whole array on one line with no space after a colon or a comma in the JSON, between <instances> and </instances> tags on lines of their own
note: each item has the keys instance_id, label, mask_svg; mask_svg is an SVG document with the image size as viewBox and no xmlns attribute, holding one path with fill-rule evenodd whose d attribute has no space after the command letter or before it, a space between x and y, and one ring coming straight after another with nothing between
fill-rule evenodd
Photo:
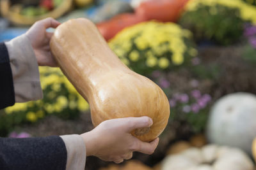
<instances>
[{"instance_id":1,"label":"tan butternut squash held in two hands","mask_svg":"<svg viewBox=\"0 0 256 170\"><path fill-rule=\"evenodd\" d=\"M152 141L163 132L170 116L163 90L125 66L90 20L78 18L61 24L52 36L51 51L90 104L94 126L112 118L148 116L154 122L152 127L136 129L132 135Z\"/></svg>"}]
</instances>

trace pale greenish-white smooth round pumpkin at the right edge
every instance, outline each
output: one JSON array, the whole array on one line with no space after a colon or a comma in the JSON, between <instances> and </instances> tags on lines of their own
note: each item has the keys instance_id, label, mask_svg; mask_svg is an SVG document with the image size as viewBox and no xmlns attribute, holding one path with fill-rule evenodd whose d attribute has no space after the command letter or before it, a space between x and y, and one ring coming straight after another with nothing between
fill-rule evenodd
<instances>
[{"instance_id":1,"label":"pale greenish-white smooth round pumpkin at the right edge","mask_svg":"<svg viewBox=\"0 0 256 170\"><path fill-rule=\"evenodd\" d=\"M241 148L251 154L256 136L256 96L244 92L221 97L211 109L207 138L211 143Z\"/></svg>"}]
</instances>

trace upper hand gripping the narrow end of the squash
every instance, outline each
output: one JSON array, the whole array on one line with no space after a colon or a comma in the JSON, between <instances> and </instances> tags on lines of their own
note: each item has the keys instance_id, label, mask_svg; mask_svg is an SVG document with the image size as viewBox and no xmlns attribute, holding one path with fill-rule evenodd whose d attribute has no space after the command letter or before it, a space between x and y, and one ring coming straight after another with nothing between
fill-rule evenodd
<instances>
[{"instance_id":1,"label":"upper hand gripping the narrow end of the squash","mask_svg":"<svg viewBox=\"0 0 256 170\"><path fill-rule=\"evenodd\" d=\"M44 20L35 22L26 32L26 36L28 36L31 42L39 66L57 66L49 46L53 33L47 32L46 29L50 27L56 28L58 25L60 25L60 22L53 18L45 18Z\"/></svg>"}]
</instances>

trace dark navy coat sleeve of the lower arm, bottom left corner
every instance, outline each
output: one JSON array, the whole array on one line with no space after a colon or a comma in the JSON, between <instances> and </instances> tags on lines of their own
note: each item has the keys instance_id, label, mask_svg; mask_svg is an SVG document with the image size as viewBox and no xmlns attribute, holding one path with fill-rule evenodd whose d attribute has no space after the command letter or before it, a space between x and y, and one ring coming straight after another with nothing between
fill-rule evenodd
<instances>
[{"instance_id":1,"label":"dark navy coat sleeve of the lower arm, bottom left corner","mask_svg":"<svg viewBox=\"0 0 256 170\"><path fill-rule=\"evenodd\" d=\"M65 170L67 150L60 136L0 138L2 170Z\"/></svg>"}]
</instances>

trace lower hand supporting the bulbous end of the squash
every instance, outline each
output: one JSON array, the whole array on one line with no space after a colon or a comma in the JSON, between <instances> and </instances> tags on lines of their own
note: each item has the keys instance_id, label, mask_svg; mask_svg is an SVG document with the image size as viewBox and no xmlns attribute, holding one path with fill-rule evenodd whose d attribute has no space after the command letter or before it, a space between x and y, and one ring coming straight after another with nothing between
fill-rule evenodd
<instances>
[{"instance_id":1,"label":"lower hand supporting the bulbous end of the squash","mask_svg":"<svg viewBox=\"0 0 256 170\"><path fill-rule=\"evenodd\" d=\"M106 120L92 131L81 134L86 145L86 155L120 163L124 159L131 159L132 152L152 154L158 145L159 138L146 143L130 133L134 129L150 127L152 123L152 119L148 117Z\"/></svg>"}]
</instances>

